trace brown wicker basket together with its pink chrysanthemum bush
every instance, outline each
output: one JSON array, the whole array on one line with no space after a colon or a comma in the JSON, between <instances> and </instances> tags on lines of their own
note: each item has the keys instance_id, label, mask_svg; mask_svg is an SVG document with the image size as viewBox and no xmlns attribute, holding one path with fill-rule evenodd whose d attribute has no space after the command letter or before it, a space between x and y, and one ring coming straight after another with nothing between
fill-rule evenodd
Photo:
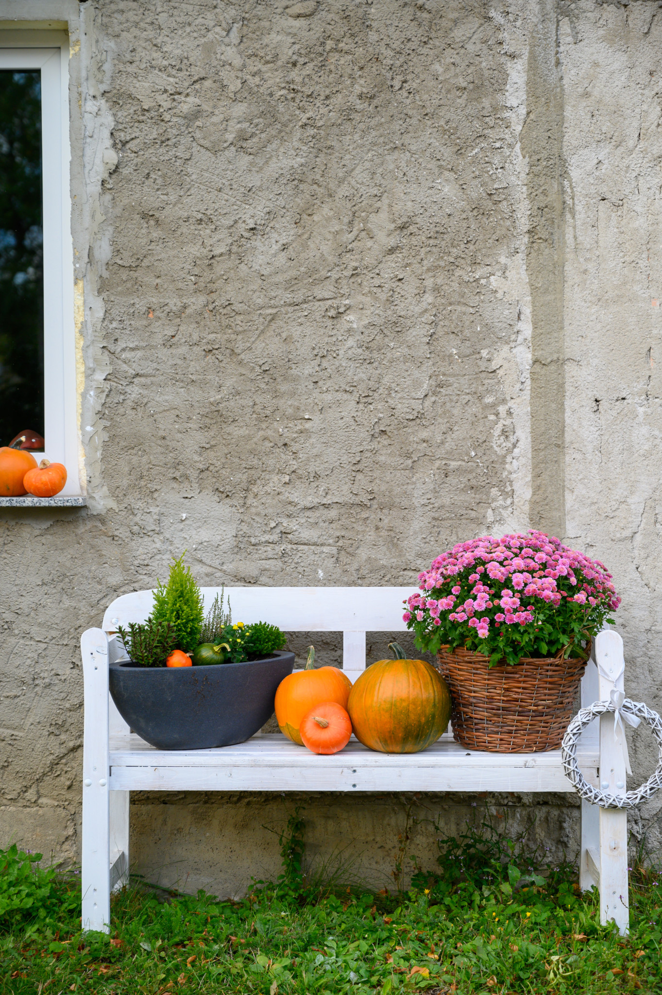
<instances>
[{"instance_id":1,"label":"brown wicker basket together with its pink chrysanthemum bush","mask_svg":"<svg viewBox=\"0 0 662 995\"><path fill-rule=\"evenodd\" d=\"M405 621L435 653L455 739L469 749L558 749L591 640L620 604L599 560L544 532L461 542L418 575Z\"/></svg>"}]
</instances>

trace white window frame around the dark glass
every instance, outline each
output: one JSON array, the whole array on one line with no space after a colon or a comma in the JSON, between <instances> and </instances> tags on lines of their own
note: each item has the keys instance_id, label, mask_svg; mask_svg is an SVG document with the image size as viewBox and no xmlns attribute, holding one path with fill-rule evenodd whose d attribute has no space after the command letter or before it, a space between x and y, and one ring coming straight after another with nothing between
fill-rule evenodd
<instances>
[{"instance_id":1,"label":"white window frame around the dark glass","mask_svg":"<svg viewBox=\"0 0 662 995\"><path fill-rule=\"evenodd\" d=\"M40 32L43 44L33 36L35 45L15 47L13 39L7 37L11 35L14 32L0 31L0 69L38 69L42 77L45 453L34 456L38 461L44 455L52 463L64 463L67 484L61 496L68 497L82 493L71 232L69 41L60 43L60 33L56 41L53 35ZM32 427L21 425L17 431Z\"/></svg>"}]
</instances>

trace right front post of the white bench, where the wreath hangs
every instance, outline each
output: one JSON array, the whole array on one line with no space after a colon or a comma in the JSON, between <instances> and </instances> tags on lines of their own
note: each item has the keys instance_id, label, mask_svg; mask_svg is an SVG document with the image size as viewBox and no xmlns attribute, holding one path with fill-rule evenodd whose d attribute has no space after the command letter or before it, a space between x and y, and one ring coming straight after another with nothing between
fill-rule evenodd
<instances>
[{"instance_id":1,"label":"right front post of the white bench, where the wreath hangs","mask_svg":"<svg viewBox=\"0 0 662 995\"><path fill-rule=\"evenodd\" d=\"M595 660L616 677L616 688L623 691L623 641L617 632L600 632L595 639ZM609 700L613 683L598 674L599 700ZM624 794L625 762L619 730L614 739L614 716L600 716L599 783L605 791ZM624 935L629 926L627 887L627 813L621 809L599 810L599 890L600 922L610 919Z\"/></svg>"}]
</instances>

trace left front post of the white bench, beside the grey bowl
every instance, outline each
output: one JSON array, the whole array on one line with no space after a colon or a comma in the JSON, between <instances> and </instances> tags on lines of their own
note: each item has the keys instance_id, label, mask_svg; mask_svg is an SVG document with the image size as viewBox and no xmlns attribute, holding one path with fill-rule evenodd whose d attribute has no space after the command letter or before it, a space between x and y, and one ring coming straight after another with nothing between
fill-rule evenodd
<instances>
[{"instance_id":1,"label":"left front post of the white bench, beside the grey bowl","mask_svg":"<svg viewBox=\"0 0 662 995\"><path fill-rule=\"evenodd\" d=\"M83 656L83 929L108 931L110 922L108 640L87 629Z\"/></svg>"}]
</instances>

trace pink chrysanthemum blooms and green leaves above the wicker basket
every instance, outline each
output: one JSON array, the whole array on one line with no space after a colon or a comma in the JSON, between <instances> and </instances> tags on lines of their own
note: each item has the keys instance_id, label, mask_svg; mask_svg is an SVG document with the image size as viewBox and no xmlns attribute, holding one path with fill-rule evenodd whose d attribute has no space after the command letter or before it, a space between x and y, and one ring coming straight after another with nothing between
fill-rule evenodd
<instances>
[{"instance_id":1,"label":"pink chrysanthemum blooms and green leaves above the wicker basket","mask_svg":"<svg viewBox=\"0 0 662 995\"><path fill-rule=\"evenodd\" d=\"M523 657L580 656L620 604L599 560L544 532L460 542L418 574L404 620L426 653L464 647L490 667Z\"/></svg>"}]
</instances>

